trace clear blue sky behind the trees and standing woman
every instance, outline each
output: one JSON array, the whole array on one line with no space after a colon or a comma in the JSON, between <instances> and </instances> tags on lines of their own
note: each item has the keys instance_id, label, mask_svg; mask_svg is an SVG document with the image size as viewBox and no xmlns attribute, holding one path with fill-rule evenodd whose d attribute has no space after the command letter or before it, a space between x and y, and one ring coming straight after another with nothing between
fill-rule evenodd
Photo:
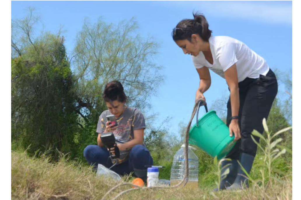
<instances>
[{"instance_id":1,"label":"clear blue sky behind the trees and standing woman","mask_svg":"<svg viewBox=\"0 0 301 200\"><path fill-rule=\"evenodd\" d=\"M156 62L165 76L151 113L157 123L172 117L170 131L178 133L178 123L188 123L199 84L189 55L184 55L171 37L172 28L192 12L205 14L213 35L226 35L246 43L264 57L272 69L292 72L292 1L11 1L11 18L21 18L25 9L35 7L45 30L58 31L63 25L67 50L72 51L75 36L86 17L95 22L118 23L133 16L141 35L152 35L160 43ZM212 85L204 94L210 107L228 94L224 79L211 72ZM203 110L201 111L203 114Z\"/></svg>"}]
</instances>

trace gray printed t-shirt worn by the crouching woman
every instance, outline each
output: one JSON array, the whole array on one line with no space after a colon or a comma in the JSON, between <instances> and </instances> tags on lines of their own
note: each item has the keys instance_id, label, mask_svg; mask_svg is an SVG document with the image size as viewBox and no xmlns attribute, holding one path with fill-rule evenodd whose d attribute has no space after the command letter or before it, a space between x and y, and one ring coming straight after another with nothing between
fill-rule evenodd
<instances>
[{"instance_id":1,"label":"gray printed t-shirt worn by the crouching woman","mask_svg":"<svg viewBox=\"0 0 301 200\"><path fill-rule=\"evenodd\" d=\"M112 113L109 110L105 110L99 116L96 129L97 133L104 133L104 130L106 129L107 115L112 115ZM144 116L137 108L126 107L123 114L120 115L119 118L116 118L116 121L118 126L116 130L113 131L113 133L116 138L117 144L125 143L134 139L134 130L142 128L145 129ZM117 159L112 159L112 163L120 164L125 162L129 158L130 151L131 150L120 151L120 157Z\"/></svg>"}]
</instances>

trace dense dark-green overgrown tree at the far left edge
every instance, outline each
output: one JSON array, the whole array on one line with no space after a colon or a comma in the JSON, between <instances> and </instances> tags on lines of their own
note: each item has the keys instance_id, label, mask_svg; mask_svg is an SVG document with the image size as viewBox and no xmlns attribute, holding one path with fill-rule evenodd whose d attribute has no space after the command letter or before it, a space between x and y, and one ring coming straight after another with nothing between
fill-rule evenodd
<instances>
[{"instance_id":1,"label":"dense dark-green overgrown tree at the far left edge","mask_svg":"<svg viewBox=\"0 0 301 200\"><path fill-rule=\"evenodd\" d=\"M12 20L19 39L11 39L11 139L30 146L30 154L74 152L76 95L64 39L50 33L33 38L36 19L30 10L24 19Z\"/></svg>"}]
</instances>

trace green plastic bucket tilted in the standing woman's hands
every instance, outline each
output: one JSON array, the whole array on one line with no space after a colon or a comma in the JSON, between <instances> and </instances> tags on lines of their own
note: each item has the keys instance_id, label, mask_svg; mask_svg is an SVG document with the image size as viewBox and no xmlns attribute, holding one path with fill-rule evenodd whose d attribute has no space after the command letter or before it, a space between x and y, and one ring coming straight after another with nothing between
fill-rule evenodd
<instances>
[{"instance_id":1,"label":"green plastic bucket tilted in the standing woman's hands","mask_svg":"<svg viewBox=\"0 0 301 200\"><path fill-rule=\"evenodd\" d=\"M205 105L206 114L198 119L200 101L197 108L197 122L189 131L189 144L196 145L212 157L220 160L224 158L234 147L234 134L229 135L229 128L216 115L214 110L208 112Z\"/></svg>"}]
</instances>

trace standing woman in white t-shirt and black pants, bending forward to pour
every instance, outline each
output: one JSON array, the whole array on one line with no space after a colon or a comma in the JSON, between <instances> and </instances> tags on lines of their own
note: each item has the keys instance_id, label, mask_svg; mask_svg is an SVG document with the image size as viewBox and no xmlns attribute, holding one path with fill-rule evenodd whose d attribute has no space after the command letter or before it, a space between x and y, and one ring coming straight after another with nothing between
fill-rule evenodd
<instances>
[{"instance_id":1,"label":"standing woman in white t-shirt and black pants, bending forward to pour","mask_svg":"<svg viewBox=\"0 0 301 200\"><path fill-rule=\"evenodd\" d=\"M196 100L211 85L209 69L224 78L230 97L227 104L227 126L237 141L222 167L228 165L229 173L217 190L248 187L246 174L250 174L257 145L251 138L255 129L263 133L263 118L268 118L272 103L278 93L275 74L265 59L239 40L227 36L211 36L212 31L205 16L193 14L194 19L183 19L173 29L172 38L185 54L191 55L200 77ZM259 141L258 137L254 137ZM230 165L229 165L230 164ZM226 170L222 170L222 174Z\"/></svg>"}]
</instances>

